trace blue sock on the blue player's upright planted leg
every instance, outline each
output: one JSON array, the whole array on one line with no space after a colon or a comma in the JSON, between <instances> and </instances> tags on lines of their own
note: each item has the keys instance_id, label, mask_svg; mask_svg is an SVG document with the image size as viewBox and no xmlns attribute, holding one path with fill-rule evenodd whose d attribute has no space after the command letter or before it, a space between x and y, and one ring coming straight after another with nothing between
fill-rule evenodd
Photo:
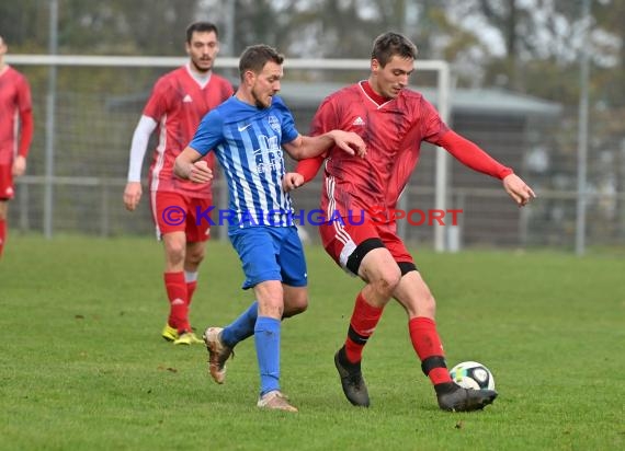
<instances>
[{"instance_id":1,"label":"blue sock on the blue player's upright planted leg","mask_svg":"<svg viewBox=\"0 0 625 451\"><path fill-rule=\"evenodd\" d=\"M280 390L280 320L259 316L254 327L261 396Z\"/></svg>"}]
</instances>

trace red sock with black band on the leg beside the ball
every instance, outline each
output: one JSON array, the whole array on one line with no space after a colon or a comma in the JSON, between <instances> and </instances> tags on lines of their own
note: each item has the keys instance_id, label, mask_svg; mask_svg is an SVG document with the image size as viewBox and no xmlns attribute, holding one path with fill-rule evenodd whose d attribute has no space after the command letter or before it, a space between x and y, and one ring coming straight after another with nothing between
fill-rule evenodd
<instances>
[{"instance_id":1,"label":"red sock with black band on the leg beside the ball","mask_svg":"<svg viewBox=\"0 0 625 451\"><path fill-rule=\"evenodd\" d=\"M423 372L427 372L432 383L436 385L452 382L434 320L424 316L413 317L408 322L408 329L412 347L421 362L424 363L422 365Z\"/></svg>"}]
</instances>

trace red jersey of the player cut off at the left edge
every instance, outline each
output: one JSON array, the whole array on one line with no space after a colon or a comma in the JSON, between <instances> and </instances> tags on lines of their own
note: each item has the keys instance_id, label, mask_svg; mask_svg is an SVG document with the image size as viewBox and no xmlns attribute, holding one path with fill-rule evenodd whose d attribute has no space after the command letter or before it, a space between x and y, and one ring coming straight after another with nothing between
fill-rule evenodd
<instances>
[{"instance_id":1,"label":"red jersey of the player cut off at the left edge","mask_svg":"<svg viewBox=\"0 0 625 451\"><path fill-rule=\"evenodd\" d=\"M12 163L18 153L18 118L32 109L31 89L26 78L12 67L7 67L0 74L0 164ZM20 146L20 154L23 157L29 150L32 129L29 134L31 136L21 139L24 141L24 146Z\"/></svg>"}]
</instances>

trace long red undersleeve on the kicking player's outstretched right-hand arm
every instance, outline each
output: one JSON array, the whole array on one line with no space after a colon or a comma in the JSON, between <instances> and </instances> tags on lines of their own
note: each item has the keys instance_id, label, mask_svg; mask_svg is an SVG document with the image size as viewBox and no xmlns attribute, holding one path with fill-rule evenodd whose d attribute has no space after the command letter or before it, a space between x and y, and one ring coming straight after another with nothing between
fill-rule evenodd
<instances>
[{"instance_id":1,"label":"long red undersleeve on the kicking player's outstretched right-hand arm","mask_svg":"<svg viewBox=\"0 0 625 451\"><path fill-rule=\"evenodd\" d=\"M456 160L474 171L491 175L499 180L503 180L503 177L513 172L512 169L499 163L481 150L475 142L463 138L455 131L448 130L434 143L445 148Z\"/></svg>"}]
</instances>

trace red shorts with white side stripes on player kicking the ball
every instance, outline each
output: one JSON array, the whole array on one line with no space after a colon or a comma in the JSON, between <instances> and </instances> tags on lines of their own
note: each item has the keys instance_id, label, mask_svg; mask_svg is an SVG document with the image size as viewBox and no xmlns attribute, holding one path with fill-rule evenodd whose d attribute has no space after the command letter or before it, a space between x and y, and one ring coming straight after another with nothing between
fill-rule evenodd
<instances>
[{"instance_id":1,"label":"red shorts with white side stripes on player kicking the ball","mask_svg":"<svg viewBox=\"0 0 625 451\"><path fill-rule=\"evenodd\" d=\"M346 264L350 255L359 244L368 239L379 239L397 263L414 263L406 245L397 236L396 222L382 223L368 216L365 218L349 216L344 217L342 222L337 218L323 222L319 226L319 233L326 252L345 270L349 270Z\"/></svg>"}]
</instances>

